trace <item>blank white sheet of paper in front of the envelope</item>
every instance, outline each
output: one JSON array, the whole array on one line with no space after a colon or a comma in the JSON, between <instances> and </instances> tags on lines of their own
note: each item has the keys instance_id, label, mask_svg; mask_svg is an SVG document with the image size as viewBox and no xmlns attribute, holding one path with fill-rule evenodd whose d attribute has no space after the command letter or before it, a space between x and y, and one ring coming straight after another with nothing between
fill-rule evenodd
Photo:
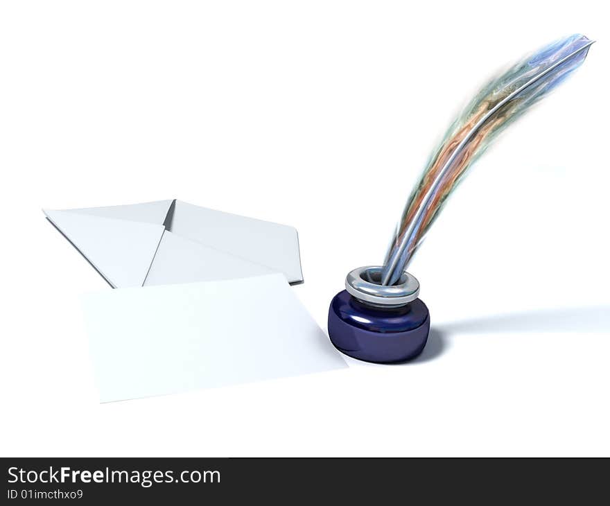
<instances>
[{"instance_id":1,"label":"blank white sheet of paper in front of the envelope","mask_svg":"<svg viewBox=\"0 0 610 506\"><path fill-rule=\"evenodd\" d=\"M347 367L283 274L85 296L101 402Z\"/></svg>"}]
</instances>

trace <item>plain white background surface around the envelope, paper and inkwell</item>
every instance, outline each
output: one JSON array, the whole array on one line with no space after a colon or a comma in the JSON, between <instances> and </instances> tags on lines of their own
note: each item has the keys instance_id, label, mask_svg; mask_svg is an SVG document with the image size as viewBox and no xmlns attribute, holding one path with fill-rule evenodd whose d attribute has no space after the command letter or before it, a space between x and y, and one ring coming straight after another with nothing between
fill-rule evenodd
<instances>
[{"instance_id":1,"label":"plain white background surface around the envelope, paper and inkwell","mask_svg":"<svg viewBox=\"0 0 610 506\"><path fill-rule=\"evenodd\" d=\"M609 455L610 25L603 2L5 1L0 453ZM180 198L293 225L322 328L381 263L453 114L558 37L584 66L498 139L410 271L422 358L100 405L80 295L46 223Z\"/></svg>"}]
</instances>

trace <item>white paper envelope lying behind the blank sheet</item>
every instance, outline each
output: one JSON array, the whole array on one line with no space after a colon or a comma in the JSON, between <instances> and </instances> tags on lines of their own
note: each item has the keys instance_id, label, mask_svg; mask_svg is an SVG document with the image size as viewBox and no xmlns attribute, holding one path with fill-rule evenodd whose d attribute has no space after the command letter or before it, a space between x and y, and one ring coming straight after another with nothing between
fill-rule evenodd
<instances>
[{"instance_id":1,"label":"white paper envelope lying behind the blank sheet","mask_svg":"<svg viewBox=\"0 0 610 506\"><path fill-rule=\"evenodd\" d=\"M272 272L303 281L297 230L286 225L180 200L43 211L113 288Z\"/></svg>"}]
</instances>

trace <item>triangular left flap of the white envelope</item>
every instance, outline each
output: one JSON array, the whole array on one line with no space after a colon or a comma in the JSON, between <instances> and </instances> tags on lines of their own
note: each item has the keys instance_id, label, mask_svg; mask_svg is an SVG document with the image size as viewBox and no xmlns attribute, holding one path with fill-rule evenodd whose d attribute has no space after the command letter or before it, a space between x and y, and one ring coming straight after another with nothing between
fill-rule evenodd
<instances>
[{"instance_id":1,"label":"triangular left flap of the white envelope","mask_svg":"<svg viewBox=\"0 0 610 506\"><path fill-rule=\"evenodd\" d=\"M44 213L114 288L143 285L163 236L163 225L103 218L80 211Z\"/></svg>"}]
</instances>

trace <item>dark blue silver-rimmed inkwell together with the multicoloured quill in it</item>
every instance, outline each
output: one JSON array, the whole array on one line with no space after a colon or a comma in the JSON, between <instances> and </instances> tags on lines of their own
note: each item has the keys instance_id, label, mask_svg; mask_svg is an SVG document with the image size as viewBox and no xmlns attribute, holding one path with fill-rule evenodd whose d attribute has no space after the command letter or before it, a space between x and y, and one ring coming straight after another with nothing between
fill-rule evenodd
<instances>
[{"instance_id":1,"label":"dark blue silver-rimmed inkwell together with the multicoloured quill in it","mask_svg":"<svg viewBox=\"0 0 610 506\"><path fill-rule=\"evenodd\" d=\"M415 185L381 267L347 274L329 308L329 337L342 353L375 363L421 354L430 314L406 271L430 225L496 134L580 67L593 44L576 34L546 46L482 87L446 132Z\"/></svg>"}]
</instances>

